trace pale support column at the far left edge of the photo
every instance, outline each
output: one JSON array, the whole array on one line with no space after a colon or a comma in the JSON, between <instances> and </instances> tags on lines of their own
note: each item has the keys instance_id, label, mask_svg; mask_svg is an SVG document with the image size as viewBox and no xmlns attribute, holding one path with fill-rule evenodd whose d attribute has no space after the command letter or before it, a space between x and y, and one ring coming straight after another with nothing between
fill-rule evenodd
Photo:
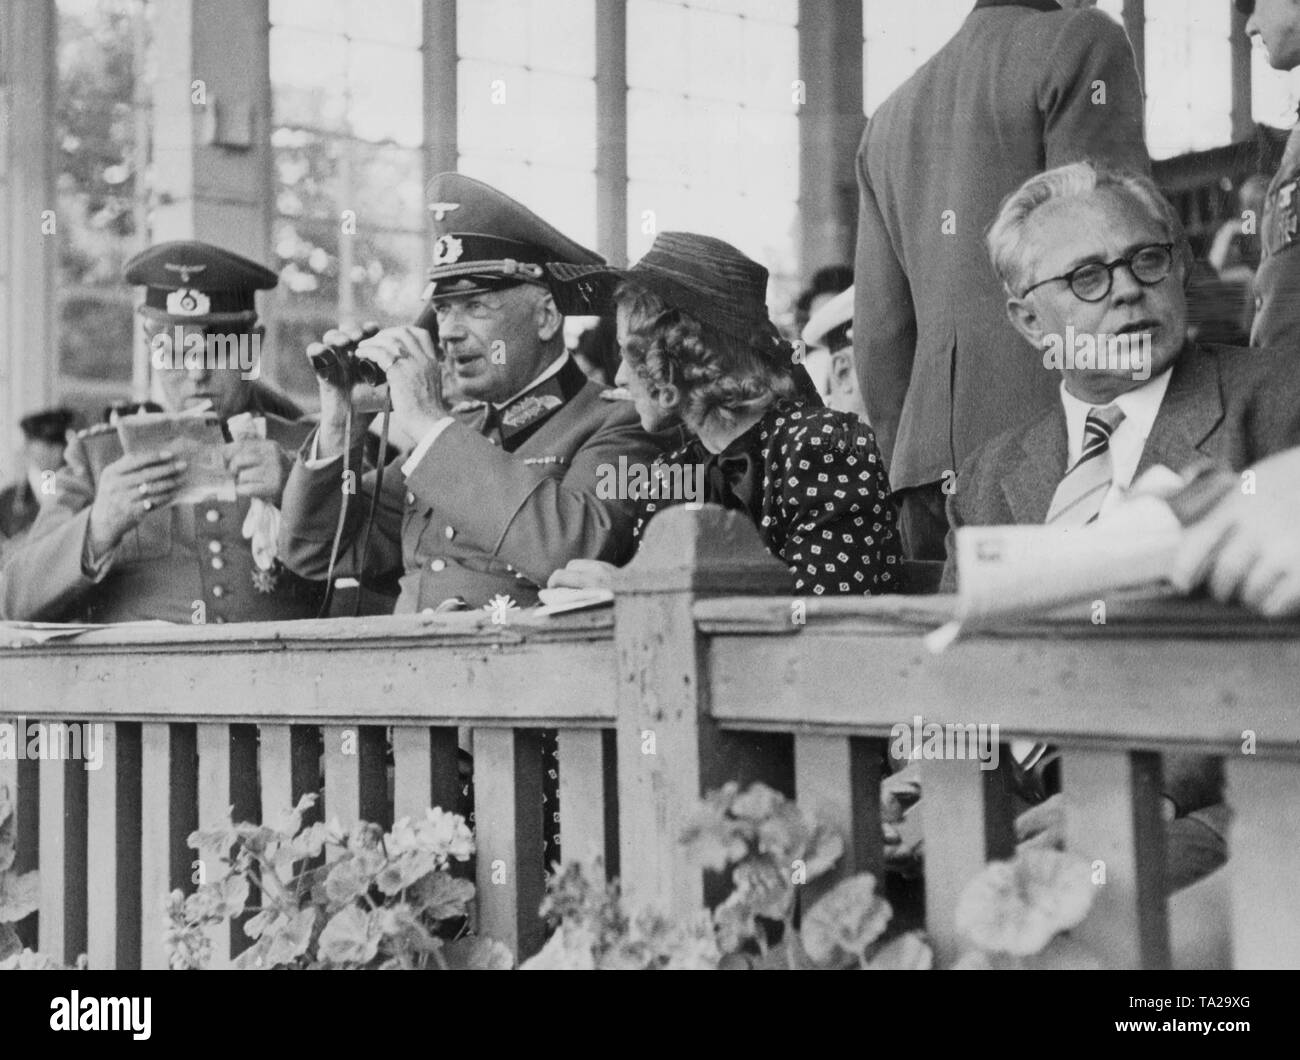
<instances>
[{"instance_id":1,"label":"pale support column at the far left edge of the photo","mask_svg":"<svg viewBox=\"0 0 1300 1060\"><path fill-rule=\"evenodd\" d=\"M0 4L0 476L55 395L55 0ZM49 211L48 213L46 211Z\"/></svg>"}]
</instances>

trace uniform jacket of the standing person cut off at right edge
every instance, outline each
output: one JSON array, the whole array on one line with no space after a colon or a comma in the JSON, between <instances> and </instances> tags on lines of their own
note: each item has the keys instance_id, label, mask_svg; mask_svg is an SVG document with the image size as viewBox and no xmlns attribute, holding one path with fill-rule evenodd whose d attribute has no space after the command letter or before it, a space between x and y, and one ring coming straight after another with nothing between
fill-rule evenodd
<instances>
[{"instance_id":1,"label":"uniform jacket of the standing person cut off at right edge","mask_svg":"<svg viewBox=\"0 0 1300 1060\"><path fill-rule=\"evenodd\" d=\"M1251 345L1300 349L1300 126L1264 200Z\"/></svg>"}]
</instances>

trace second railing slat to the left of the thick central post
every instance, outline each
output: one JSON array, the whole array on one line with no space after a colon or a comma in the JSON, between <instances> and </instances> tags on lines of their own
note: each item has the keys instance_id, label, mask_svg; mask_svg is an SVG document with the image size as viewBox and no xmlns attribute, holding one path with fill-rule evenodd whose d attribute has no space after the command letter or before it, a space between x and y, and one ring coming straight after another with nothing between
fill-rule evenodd
<instances>
[{"instance_id":1,"label":"second railing slat to the left of the thick central post","mask_svg":"<svg viewBox=\"0 0 1300 1060\"><path fill-rule=\"evenodd\" d=\"M542 940L541 737L536 731L478 728L473 740L478 934L524 960Z\"/></svg>"}]
</instances>

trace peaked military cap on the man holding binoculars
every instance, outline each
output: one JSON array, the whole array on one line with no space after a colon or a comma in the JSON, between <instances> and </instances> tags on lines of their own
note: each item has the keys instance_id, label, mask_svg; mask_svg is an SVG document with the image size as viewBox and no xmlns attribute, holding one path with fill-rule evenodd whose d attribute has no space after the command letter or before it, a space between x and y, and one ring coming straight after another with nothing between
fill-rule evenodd
<instances>
[{"instance_id":1,"label":"peaked military cap on the man holding binoculars","mask_svg":"<svg viewBox=\"0 0 1300 1060\"><path fill-rule=\"evenodd\" d=\"M425 298L452 293L452 287L455 294L516 284L549 287L549 261L604 264L595 251L473 177L439 173L429 183L429 196L438 238Z\"/></svg>"}]
</instances>

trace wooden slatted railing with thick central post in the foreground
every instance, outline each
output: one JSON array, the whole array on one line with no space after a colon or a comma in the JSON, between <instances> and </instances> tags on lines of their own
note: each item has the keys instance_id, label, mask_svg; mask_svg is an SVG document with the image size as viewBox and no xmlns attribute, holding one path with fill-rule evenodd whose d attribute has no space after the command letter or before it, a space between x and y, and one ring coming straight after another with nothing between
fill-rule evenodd
<instances>
[{"instance_id":1,"label":"wooden slatted railing with thick central post in the foreground","mask_svg":"<svg viewBox=\"0 0 1300 1060\"><path fill-rule=\"evenodd\" d=\"M40 870L35 942L94 968L165 966L162 899L192 887L190 831L231 806L273 821L321 788L344 823L452 808L458 727L473 748L478 926L521 955L542 938L540 728L560 732L566 857L603 853L633 901L699 908L677 835L728 779L763 779L838 825L837 873L879 871L881 745L922 715L1063 748L1067 843L1106 866L1080 935L1113 966L1170 961L1161 754L1222 754L1234 964L1300 966L1300 626L1117 600L1104 626L1079 609L936 657L922 635L950 598L788 585L748 523L677 509L623 572L612 614L120 627L0 649L0 717L105 735L99 770L0 761L16 868ZM1011 852L1011 806L976 761L920 767L927 929L944 962L962 949L961 888Z\"/></svg>"}]
</instances>

